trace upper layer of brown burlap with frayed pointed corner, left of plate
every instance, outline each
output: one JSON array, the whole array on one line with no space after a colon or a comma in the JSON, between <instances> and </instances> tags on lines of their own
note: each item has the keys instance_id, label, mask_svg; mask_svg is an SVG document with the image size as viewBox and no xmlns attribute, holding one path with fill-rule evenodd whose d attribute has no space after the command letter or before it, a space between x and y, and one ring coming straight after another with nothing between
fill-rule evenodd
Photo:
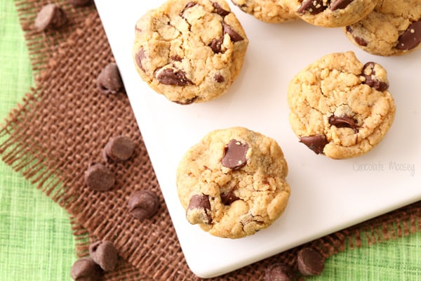
<instances>
[{"instance_id":1,"label":"upper layer of brown burlap with frayed pointed corner, left of plate","mask_svg":"<svg viewBox=\"0 0 421 281\"><path fill-rule=\"evenodd\" d=\"M128 98L123 92L103 95L96 87L98 73L113 60L95 12L57 46L37 86L12 110L0 130L0 154L88 233L114 242L121 258L142 274L192 280ZM118 135L135 141L135 155L105 163L116 174L112 190L89 190L84 171L104 161L102 148ZM151 220L128 214L128 198L139 189L159 195L161 208Z\"/></svg>"}]
</instances>

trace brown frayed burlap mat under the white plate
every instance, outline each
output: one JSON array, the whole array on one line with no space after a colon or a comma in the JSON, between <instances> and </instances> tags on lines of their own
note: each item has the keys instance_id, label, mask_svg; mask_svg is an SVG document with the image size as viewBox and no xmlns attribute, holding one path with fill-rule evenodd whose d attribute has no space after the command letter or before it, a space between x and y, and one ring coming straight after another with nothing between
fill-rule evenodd
<instances>
[{"instance_id":1,"label":"brown frayed burlap mat under the white plate","mask_svg":"<svg viewBox=\"0 0 421 281\"><path fill-rule=\"evenodd\" d=\"M78 256L86 256L94 240L114 242L121 259L106 280L199 280L182 255L127 96L105 96L96 89L98 73L114 58L95 7L73 8L59 1L70 25L58 32L34 32L36 12L46 3L16 1L37 79L0 130L5 136L0 155L69 212ZM135 156L107 164L116 174L111 191L89 190L83 173L91 162L102 162L102 148L116 135L135 140ZM159 194L161 201L159 213L149 221L133 219L126 209L131 192L142 188ZM308 244L328 257L363 240L371 244L414 233L421 230L420 218L417 202ZM262 280L270 263L293 265L297 251L214 280Z\"/></svg>"}]
</instances>

